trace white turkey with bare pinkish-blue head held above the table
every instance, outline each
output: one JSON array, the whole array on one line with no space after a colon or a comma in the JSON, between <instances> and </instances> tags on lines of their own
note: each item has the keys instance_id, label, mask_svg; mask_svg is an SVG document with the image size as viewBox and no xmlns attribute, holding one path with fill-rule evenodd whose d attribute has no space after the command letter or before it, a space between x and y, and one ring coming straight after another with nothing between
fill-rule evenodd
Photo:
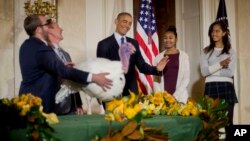
<instances>
[{"instance_id":1,"label":"white turkey with bare pinkish-blue head held above the table","mask_svg":"<svg viewBox=\"0 0 250 141\"><path fill-rule=\"evenodd\" d=\"M121 61L111 61L105 58L95 58L85 61L76 66L77 69L88 71L91 73L108 72L107 78L113 81L110 89L104 91L96 83L83 85L73 81L66 80L61 85L61 89L56 94L56 103L60 103L70 94L76 91L84 91L91 97L96 97L101 101L110 101L116 97L120 97L125 86L124 74L128 71L130 55L134 53L135 48L131 43L123 44L119 49Z\"/></svg>"}]
</instances>

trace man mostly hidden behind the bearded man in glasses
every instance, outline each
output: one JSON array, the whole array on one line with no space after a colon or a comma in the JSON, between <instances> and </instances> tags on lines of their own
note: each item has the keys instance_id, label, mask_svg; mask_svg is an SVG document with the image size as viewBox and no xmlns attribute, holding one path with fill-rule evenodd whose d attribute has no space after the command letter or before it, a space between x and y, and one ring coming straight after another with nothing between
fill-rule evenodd
<instances>
[{"instance_id":1,"label":"man mostly hidden behind the bearded man in glasses","mask_svg":"<svg viewBox=\"0 0 250 141\"><path fill-rule=\"evenodd\" d=\"M59 46L59 42L63 40L62 31L63 29L59 26L56 21L51 21L51 24L48 25L48 44L55 51L57 58L61 60L66 66L74 67L74 63L71 60L71 57L68 52L63 50ZM59 78L59 83L63 82L63 79ZM82 109L82 101L80 93L72 93L69 97L66 97L62 102L55 105L55 112L58 115L65 114L84 114Z\"/></svg>"}]
</instances>

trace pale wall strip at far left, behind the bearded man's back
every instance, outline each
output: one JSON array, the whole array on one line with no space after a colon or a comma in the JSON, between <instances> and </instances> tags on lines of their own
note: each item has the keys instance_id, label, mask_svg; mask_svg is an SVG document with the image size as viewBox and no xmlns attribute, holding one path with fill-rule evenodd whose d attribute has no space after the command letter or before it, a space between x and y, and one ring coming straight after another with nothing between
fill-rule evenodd
<instances>
[{"instance_id":1,"label":"pale wall strip at far left, behind the bearded man's back","mask_svg":"<svg viewBox=\"0 0 250 141\"><path fill-rule=\"evenodd\" d=\"M14 93L14 5L13 0L0 0L0 98Z\"/></svg>"}]
</instances>

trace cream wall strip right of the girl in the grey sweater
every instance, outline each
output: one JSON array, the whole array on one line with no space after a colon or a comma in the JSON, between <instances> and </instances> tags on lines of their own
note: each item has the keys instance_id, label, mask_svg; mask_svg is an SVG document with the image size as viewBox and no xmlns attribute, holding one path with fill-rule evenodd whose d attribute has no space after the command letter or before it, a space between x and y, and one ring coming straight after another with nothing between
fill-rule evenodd
<instances>
[{"instance_id":1,"label":"cream wall strip right of the girl in the grey sweater","mask_svg":"<svg viewBox=\"0 0 250 141\"><path fill-rule=\"evenodd\" d=\"M240 124L250 124L250 1L236 1L236 45L238 49L238 98L239 110L238 117Z\"/></svg>"}]
</instances>

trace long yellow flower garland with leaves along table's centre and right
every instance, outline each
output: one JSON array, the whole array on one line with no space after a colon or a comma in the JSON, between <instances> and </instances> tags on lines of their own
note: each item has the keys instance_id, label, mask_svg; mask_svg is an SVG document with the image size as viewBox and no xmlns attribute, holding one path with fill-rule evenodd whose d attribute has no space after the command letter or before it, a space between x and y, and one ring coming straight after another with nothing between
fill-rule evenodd
<instances>
[{"instance_id":1,"label":"long yellow flower garland with leaves along table's centre and right","mask_svg":"<svg viewBox=\"0 0 250 141\"><path fill-rule=\"evenodd\" d=\"M201 97L198 102L189 98L187 103L180 103L166 91L140 97L130 92L129 97L114 99L108 102L106 107L105 119L110 121L110 130L102 141L122 141L123 139L168 140L167 133L160 132L160 135L157 134L161 139L153 139L152 136L149 136L152 132L161 131L161 129L148 128L141 123L141 119L152 117L152 115L200 117L203 122L203 129L197 136L196 141L218 139L218 136L222 134L218 129L225 127L227 124L227 103L225 100L212 99L207 96ZM111 129L112 121L127 121L127 123L120 131L113 133ZM148 134L147 129L152 129L149 131L150 134ZM209 138L207 138L208 136Z\"/></svg>"}]
</instances>

